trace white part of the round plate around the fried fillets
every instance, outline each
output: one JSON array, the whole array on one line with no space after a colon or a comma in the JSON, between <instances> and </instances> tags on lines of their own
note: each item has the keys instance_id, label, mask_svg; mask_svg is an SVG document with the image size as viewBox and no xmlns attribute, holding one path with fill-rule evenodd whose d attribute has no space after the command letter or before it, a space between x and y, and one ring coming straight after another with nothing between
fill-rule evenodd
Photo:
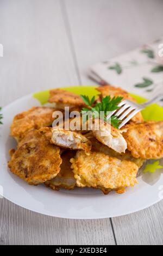
<instances>
[{"instance_id":1,"label":"white part of the round plate around the fried fillets","mask_svg":"<svg viewBox=\"0 0 163 256\"><path fill-rule=\"evenodd\" d=\"M12 174L8 169L8 151L16 147L14 139L9 137L12 119L17 113L38 105L40 105L39 101L31 94L3 108L4 119L0 127L0 186L1 192L3 188L5 198L40 214L76 219L126 215L145 209L161 200L161 195L163 196L162 170L158 170L154 175L140 176L139 185L128 188L124 194L111 192L107 196L91 188L53 191L44 185L29 186Z\"/></svg>"}]
</instances>

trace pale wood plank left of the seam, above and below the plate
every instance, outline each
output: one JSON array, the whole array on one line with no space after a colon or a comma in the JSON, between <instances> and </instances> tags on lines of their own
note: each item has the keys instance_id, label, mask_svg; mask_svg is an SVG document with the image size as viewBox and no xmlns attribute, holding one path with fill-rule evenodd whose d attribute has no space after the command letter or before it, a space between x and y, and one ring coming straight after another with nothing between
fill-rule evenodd
<instances>
[{"instance_id":1,"label":"pale wood plank left of the seam, above and below the plate","mask_svg":"<svg viewBox=\"0 0 163 256\"><path fill-rule=\"evenodd\" d=\"M47 88L79 83L59 0L0 2L0 103ZM0 199L0 244L115 244L110 220L48 217Z\"/></svg>"}]
</instances>

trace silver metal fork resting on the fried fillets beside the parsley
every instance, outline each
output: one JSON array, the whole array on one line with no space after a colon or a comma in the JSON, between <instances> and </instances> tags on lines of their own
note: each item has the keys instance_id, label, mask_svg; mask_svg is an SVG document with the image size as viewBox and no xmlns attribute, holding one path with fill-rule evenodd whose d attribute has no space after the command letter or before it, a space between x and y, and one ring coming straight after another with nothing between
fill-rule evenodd
<instances>
[{"instance_id":1,"label":"silver metal fork resting on the fried fillets beside the parsley","mask_svg":"<svg viewBox=\"0 0 163 256\"><path fill-rule=\"evenodd\" d=\"M152 103L158 102L161 99L163 99L163 94L155 96L152 100L149 100L148 102L143 103L143 104L137 104L130 100L123 100L120 104L118 104L118 107L120 107L120 108L118 108L115 111L110 112L110 114L107 115L106 119L107 120L110 119L111 116L115 114L116 117L122 121L122 123L119 126L119 129L121 129L137 113L139 113L140 111L145 109L147 106L151 105Z\"/></svg>"}]
</instances>

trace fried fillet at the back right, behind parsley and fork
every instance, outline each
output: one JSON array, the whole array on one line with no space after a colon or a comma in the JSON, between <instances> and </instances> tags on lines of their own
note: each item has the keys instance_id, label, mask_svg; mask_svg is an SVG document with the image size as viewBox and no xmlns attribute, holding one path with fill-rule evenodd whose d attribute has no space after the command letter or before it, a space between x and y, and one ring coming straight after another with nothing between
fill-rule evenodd
<instances>
[{"instance_id":1,"label":"fried fillet at the back right, behind parsley and fork","mask_svg":"<svg viewBox=\"0 0 163 256\"><path fill-rule=\"evenodd\" d=\"M97 87L96 90L98 90L98 92L101 93L99 95L100 100L102 100L103 97L110 95L111 97L121 96L126 100L136 102L135 99L128 92L118 87L108 85L108 86ZM142 123L143 122L142 114L141 113L136 114L135 117L131 119L131 121L135 123Z\"/></svg>"}]
</instances>

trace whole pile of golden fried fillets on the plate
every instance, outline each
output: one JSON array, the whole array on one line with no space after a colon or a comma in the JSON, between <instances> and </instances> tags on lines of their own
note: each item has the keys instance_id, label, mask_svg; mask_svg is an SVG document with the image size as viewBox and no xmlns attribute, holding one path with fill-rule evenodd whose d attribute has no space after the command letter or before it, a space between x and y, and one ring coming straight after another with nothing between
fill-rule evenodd
<instances>
[{"instance_id":1,"label":"whole pile of golden fried fillets on the plate","mask_svg":"<svg viewBox=\"0 0 163 256\"><path fill-rule=\"evenodd\" d=\"M135 101L121 88L108 85L97 90L98 101L107 95ZM103 120L99 130L64 130L64 124L52 127L53 112L64 113L65 106L81 111L84 101L61 89L51 90L48 101L50 107L33 107L17 114L11 125L17 149L10 150L8 166L30 185L123 193L137 184L137 173L146 160L163 157L163 121L145 122L138 113L121 130Z\"/></svg>"}]
</instances>

